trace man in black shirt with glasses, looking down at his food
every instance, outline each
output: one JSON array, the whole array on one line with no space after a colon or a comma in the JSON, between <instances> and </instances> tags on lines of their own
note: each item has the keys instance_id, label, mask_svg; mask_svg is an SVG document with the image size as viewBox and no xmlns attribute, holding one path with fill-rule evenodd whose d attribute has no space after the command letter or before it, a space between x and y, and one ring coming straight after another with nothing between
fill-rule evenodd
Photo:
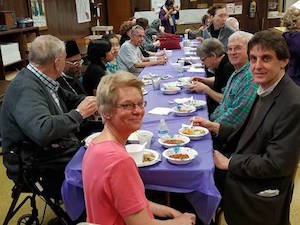
<instances>
[{"instance_id":1,"label":"man in black shirt with glasses, looking down at his food","mask_svg":"<svg viewBox=\"0 0 300 225\"><path fill-rule=\"evenodd\" d=\"M197 55L205 65L206 74L210 69L214 71L214 76L195 77L189 88L191 91L204 92L207 95L208 115L210 116L222 100L222 89L226 86L234 67L229 62L223 44L216 38L204 40L197 49Z\"/></svg>"}]
</instances>

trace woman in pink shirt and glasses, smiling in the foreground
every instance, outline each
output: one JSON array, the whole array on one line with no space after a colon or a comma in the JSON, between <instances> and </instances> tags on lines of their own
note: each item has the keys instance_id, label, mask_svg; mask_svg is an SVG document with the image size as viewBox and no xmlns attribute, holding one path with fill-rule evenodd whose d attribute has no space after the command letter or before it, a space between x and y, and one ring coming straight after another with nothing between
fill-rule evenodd
<instances>
[{"instance_id":1,"label":"woman in pink shirt and glasses, smiling in the foreground","mask_svg":"<svg viewBox=\"0 0 300 225\"><path fill-rule=\"evenodd\" d=\"M82 162L87 221L105 225L194 224L195 215L180 213L145 197L143 181L125 149L128 136L141 127L143 83L119 71L102 78L97 104L104 130L89 144ZM169 220L155 220L154 215Z\"/></svg>"}]
</instances>

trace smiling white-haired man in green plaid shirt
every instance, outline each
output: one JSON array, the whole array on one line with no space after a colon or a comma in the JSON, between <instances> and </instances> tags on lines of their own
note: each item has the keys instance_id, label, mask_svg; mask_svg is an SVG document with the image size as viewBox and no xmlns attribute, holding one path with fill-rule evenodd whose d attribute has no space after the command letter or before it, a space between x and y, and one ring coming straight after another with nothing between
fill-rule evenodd
<instances>
[{"instance_id":1,"label":"smiling white-haired man in green plaid shirt","mask_svg":"<svg viewBox=\"0 0 300 225\"><path fill-rule=\"evenodd\" d=\"M227 81L220 105L210 116L211 121L230 126L232 129L236 129L245 120L254 103L258 88L249 70L247 44L251 37L252 34L244 31L237 31L229 37L228 57L235 71ZM194 117L192 120L195 124L201 124L211 132L215 132L206 119ZM224 142L213 136L213 145L214 149L222 151ZM226 152L226 155L230 156L231 153L232 151ZM216 169L214 175L216 186L222 195L224 173Z\"/></svg>"}]
</instances>

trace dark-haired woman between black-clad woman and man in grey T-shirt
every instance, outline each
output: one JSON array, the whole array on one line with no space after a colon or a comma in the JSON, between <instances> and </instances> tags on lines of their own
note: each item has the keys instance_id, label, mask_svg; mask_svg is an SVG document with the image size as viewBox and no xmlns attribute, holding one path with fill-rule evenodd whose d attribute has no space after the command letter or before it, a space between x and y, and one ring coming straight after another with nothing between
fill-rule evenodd
<instances>
[{"instance_id":1,"label":"dark-haired woman between black-clad woman and man in grey T-shirt","mask_svg":"<svg viewBox=\"0 0 300 225\"><path fill-rule=\"evenodd\" d=\"M106 39L110 42L111 51L114 56L114 59L111 62L107 62L105 64L106 72L107 73L115 73L118 70L120 70L120 63L117 60L118 53L120 50L120 40L119 40L118 36L115 34L106 34L102 38Z\"/></svg>"}]
</instances>

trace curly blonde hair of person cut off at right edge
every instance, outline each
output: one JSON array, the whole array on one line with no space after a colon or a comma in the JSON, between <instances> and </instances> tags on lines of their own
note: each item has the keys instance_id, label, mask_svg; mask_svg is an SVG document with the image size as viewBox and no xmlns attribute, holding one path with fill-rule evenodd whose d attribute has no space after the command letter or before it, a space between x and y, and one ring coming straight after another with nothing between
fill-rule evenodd
<instances>
[{"instance_id":1,"label":"curly blonde hair of person cut off at right edge","mask_svg":"<svg viewBox=\"0 0 300 225\"><path fill-rule=\"evenodd\" d=\"M297 25L297 20L300 20L300 10L292 6L287 9L282 18L282 25L288 31L299 31L300 27Z\"/></svg>"}]
</instances>

